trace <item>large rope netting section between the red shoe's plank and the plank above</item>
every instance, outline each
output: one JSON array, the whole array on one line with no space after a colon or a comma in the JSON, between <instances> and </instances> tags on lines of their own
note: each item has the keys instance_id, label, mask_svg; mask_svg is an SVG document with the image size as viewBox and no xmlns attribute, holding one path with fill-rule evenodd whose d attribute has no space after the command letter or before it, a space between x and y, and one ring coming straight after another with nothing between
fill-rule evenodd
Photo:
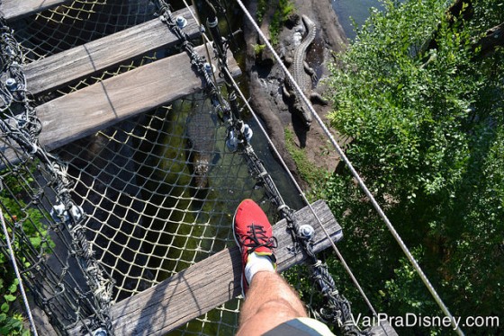
<instances>
[{"instance_id":1,"label":"large rope netting section between the red shoe's plank and the plank above","mask_svg":"<svg viewBox=\"0 0 504 336\"><path fill-rule=\"evenodd\" d=\"M265 199L210 111L209 99L186 98L58 150L114 299L227 247L239 201Z\"/></svg>"}]
</instances>

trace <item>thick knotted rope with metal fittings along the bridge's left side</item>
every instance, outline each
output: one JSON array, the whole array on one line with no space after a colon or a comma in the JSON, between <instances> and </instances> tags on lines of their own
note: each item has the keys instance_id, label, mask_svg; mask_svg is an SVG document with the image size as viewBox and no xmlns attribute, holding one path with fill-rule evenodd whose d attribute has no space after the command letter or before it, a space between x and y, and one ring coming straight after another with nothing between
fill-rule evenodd
<instances>
[{"instance_id":1,"label":"thick knotted rope with metal fittings along the bridge's left side","mask_svg":"<svg viewBox=\"0 0 504 336\"><path fill-rule=\"evenodd\" d=\"M93 246L85 238L85 212L76 205L70 195L71 181L67 175L67 163L49 154L39 144L41 122L36 115L32 100L26 90L26 78L23 74L23 52L14 39L14 31L0 19L0 61L2 62L2 78L0 98L4 119L0 119L0 130L31 156L36 156L41 163L41 169L49 173L50 184L56 190L56 203L52 210L56 223L66 227L72 240L72 251L78 265L85 274L87 286L92 293L94 316L86 329L105 329L112 334L112 322L109 308L112 304L111 277L103 270L102 264L94 259ZM106 274L106 276L104 275ZM62 287L62 284L61 284ZM76 289L77 290L77 289ZM62 292L64 288L62 288ZM77 294L85 298L85 294ZM46 301L46 300L42 300ZM79 315L81 307L76 306ZM50 314L50 312L49 312ZM82 319L89 316L81 316Z\"/></svg>"}]
</instances>

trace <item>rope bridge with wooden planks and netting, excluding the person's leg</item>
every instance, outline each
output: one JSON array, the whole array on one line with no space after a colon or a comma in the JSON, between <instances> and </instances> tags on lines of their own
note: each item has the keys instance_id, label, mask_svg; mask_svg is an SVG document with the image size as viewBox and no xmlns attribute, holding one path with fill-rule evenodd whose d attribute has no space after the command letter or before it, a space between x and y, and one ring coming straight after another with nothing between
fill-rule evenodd
<instances>
[{"instance_id":1,"label":"rope bridge with wooden planks and netting, excluding the person's leg","mask_svg":"<svg viewBox=\"0 0 504 336\"><path fill-rule=\"evenodd\" d=\"M278 222L279 269L309 261L320 318L361 333L315 254L341 228L303 203L239 107L215 15L207 44L188 5L13 3L0 3L0 247L58 332L236 332L231 221L250 198Z\"/></svg>"}]
</instances>

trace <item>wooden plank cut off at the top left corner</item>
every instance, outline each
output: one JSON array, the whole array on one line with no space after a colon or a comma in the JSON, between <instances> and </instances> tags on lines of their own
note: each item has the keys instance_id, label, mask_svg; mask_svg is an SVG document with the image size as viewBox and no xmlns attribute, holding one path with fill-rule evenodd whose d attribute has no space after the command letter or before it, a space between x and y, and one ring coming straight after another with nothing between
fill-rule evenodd
<instances>
[{"instance_id":1,"label":"wooden plank cut off at the top left corner","mask_svg":"<svg viewBox=\"0 0 504 336\"><path fill-rule=\"evenodd\" d=\"M4 15L5 20L14 21L71 2L70 0L2 0L0 2L0 13Z\"/></svg>"}]
</instances>

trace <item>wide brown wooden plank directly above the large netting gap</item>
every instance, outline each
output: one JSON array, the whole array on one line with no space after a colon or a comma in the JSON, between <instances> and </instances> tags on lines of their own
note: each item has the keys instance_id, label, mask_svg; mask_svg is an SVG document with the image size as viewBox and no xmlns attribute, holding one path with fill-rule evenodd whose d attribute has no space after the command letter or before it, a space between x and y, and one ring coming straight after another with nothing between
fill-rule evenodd
<instances>
[{"instance_id":1,"label":"wide brown wooden plank directly above the large netting gap","mask_svg":"<svg viewBox=\"0 0 504 336\"><path fill-rule=\"evenodd\" d=\"M195 49L204 55L204 46ZM229 69L239 67L229 53ZM40 144L49 150L202 89L186 53L161 59L36 108Z\"/></svg>"}]
</instances>

